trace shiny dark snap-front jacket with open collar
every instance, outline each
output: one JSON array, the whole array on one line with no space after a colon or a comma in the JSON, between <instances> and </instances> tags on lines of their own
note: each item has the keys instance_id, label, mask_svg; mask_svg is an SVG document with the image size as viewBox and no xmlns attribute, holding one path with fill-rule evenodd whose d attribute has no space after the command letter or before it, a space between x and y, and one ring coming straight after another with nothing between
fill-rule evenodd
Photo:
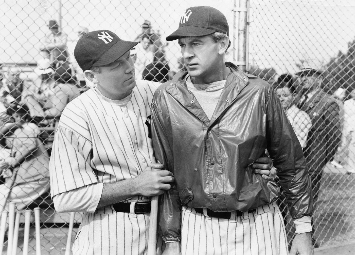
<instances>
[{"instance_id":1,"label":"shiny dark snap-front jacket with open collar","mask_svg":"<svg viewBox=\"0 0 355 255\"><path fill-rule=\"evenodd\" d=\"M165 241L181 235L181 206L216 212L269 204L280 190L255 174L251 164L265 149L274 159L291 216L310 215L311 181L301 145L274 89L231 63L231 73L211 121L184 80L186 69L161 85L152 102L156 158L173 172L176 185L163 195L159 225Z\"/></svg>"}]
</instances>

